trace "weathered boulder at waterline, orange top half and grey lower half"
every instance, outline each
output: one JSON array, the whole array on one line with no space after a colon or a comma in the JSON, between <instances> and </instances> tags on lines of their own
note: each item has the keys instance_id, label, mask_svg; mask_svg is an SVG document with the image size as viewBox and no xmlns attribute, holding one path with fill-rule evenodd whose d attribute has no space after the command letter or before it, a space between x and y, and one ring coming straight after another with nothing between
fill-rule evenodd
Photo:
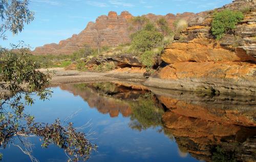
<instances>
[{"instance_id":1,"label":"weathered boulder at waterline, orange top half and grey lower half","mask_svg":"<svg viewBox=\"0 0 256 162\"><path fill-rule=\"evenodd\" d=\"M184 90L256 95L256 65L243 62L181 62L168 65L144 83L147 86Z\"/></svg>"}]
</instances>

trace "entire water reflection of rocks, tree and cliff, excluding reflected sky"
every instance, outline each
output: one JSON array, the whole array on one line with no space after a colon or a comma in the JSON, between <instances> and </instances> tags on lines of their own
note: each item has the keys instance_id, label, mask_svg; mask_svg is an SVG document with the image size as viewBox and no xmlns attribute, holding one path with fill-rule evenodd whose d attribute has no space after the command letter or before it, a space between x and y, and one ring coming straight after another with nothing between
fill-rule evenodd
<instances>
[{"instance_id":1,"label":"entire water reflection of rocks, tree and cliff, excluding reflected sky","mask_svg":"<svg viewBox=\"0 0 256 162\"><path fill-rule=\"evenodd\" d=\"M255 98L211 96L131 83L62 85L102 114L129 117L135 130L158 128L181 157L205 161L256 160Z\"/></svg>"}]
</instances>

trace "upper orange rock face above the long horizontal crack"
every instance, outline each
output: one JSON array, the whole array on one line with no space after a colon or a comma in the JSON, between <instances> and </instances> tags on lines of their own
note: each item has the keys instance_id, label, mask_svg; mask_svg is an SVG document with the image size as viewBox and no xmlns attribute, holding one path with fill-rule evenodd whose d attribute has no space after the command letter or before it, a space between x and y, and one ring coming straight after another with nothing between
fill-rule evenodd
<instances>
[{"instance_id":1,"label":"upper orange rock face above the long horizontal crack","mask_svg":"<svg viewBox=\"0 0 256 162\"><path fill-rule=\"evenodd\" d=\"M169 64L178 62L224 62L256 61L246 52L231 51L223 48L215 40L196 38L187 43L174 42L165 47L161 59Z\"/></svg>"}]
</instances>

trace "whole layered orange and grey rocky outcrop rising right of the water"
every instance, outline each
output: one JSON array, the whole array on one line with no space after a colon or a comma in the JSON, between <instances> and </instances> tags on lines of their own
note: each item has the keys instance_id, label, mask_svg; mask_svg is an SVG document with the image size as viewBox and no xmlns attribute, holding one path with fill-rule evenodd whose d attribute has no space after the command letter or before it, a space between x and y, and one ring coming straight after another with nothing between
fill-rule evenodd
<instances>
[{"instance_id":1,"label":"whole layered orange and grey rocky outcrop rising right of the water","mask_svg":"<svg viewBox=\"0 0 256 162\"><path fill-rule=\"evenodd\" d=\"M256 95L256 1L237 0L217 10L251 7L221 41L210 32L212 11L198 14L164 47L160 68L145 85L214 94ZM159 84L161 83L161 84Z\"/></svg>"}]
</instances>

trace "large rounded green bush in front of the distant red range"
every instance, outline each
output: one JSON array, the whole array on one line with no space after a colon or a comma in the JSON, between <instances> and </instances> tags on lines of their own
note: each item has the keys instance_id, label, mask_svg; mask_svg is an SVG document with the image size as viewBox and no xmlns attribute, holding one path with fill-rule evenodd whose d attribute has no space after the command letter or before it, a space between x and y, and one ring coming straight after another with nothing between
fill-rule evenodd
<instances>
[{"instance_id":1,"label":"large rounded green bush in front of the distant red range","mask_svg":"<svg viewBox=\"0 0 256 162\"><path fill-rule=\"evenodd\" d=\"M142 30L134 35L132 47L137 51L144 52L157 47L162 40L163 35L160 32Z\"/></svg>"}]
</instances>

